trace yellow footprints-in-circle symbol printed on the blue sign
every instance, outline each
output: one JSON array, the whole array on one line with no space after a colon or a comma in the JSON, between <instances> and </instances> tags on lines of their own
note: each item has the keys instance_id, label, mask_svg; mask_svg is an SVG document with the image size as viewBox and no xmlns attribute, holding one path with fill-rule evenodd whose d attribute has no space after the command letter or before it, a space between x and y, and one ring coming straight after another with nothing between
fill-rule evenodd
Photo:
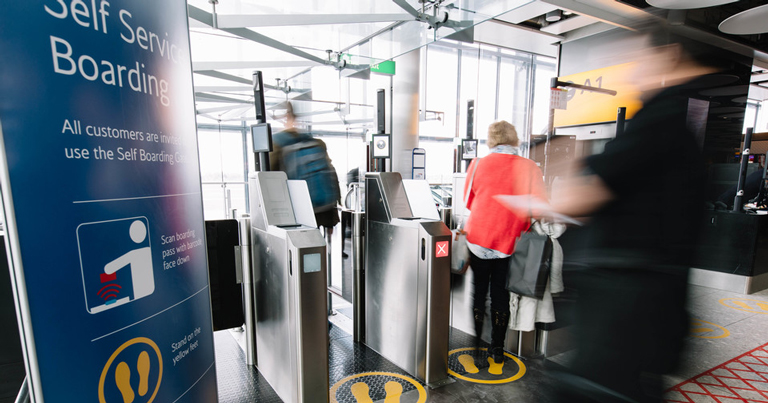
<instances>
[{"instance_id":1,"label":"yellow footprints-in-circle symbol printed on the blue sign","mask_svg":"<svg viewBox=\"0 0 768 403\"><path fill-rule=\"evenodd\" d=\"M117 350L112 353L112 356L109 357L106 365L104 365L104 369L101 371L101 377L99 378L99 402L106 403L104 387L105 383L107 382L107 374L110 373L112 364L115 362L115 359L120 357L120 354L126 348L133 345L144 345L144 350L139 354L135 365L137 373L134 374L134 376L138 376L139 378L138 390L134 391L130 384L132 373L131 368L133 367L133 362L131 360L129 360L130 364L120 360L120 362L115 367L114 378L110 381L115 382L115 386L117 386L120 394L123 397L123 401L125 402L130 401L133 403L139 403L140 401L144 401L143 399L148 399L146 400L146 403L151 403L153 400L155 400L155 396L157 396L157 392L160 390L160 382L163 380L163 356L160 354L160 348L157 347L157 344L155 344L154 341L146 337L136 337L126 341L122 346L118 347ZM155 390L152 392L151 396L147 396L149 392L149 371L151 366L151 360L147 351L154 351L158 363L157 384L155 385ZM137 400L137 397L141 397L143 399Z\"/></svg>"}]
</instances>

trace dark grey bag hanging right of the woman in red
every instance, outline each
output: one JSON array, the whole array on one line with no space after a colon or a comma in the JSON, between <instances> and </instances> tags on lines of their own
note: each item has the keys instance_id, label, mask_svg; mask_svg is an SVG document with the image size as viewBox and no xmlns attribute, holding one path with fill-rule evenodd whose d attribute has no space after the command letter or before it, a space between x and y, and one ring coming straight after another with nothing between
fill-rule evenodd
<instances>
[{"instance_id":1,"label":"dark grey bag hanging right of the woman in red","mask_svg":"<svg viewBox=\"0 0 768 403\"><path fill-rule=\"evenodd\" d=\"M509 258L507 290L518 295L541 299L549 281L552 240L531 228L520 234Z\"/></svg>"}]
</instances>

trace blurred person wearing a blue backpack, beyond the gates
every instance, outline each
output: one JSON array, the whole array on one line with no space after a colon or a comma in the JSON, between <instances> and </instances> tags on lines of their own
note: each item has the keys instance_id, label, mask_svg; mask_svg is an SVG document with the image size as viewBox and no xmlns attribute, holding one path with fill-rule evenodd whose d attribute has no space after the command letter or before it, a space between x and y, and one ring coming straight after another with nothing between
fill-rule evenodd
<instances>
[{"instance_id":1,"label":"blurred person wearing a blue backpack, beyond the gates","mask_svg":"<svg viewBox=\"0 0 768 403\"><path fill-rule=\"evenodd\" d=\"M296 115L290 102L287 103L285 119L285 129L272 137L270 170L283 171L288 179L307 182L315 221L318 228L323 227L328 236L339 223L336 206L341 200L341 190L336 169L331 164L322 140L296 130Z\"/></svg>"}]
</instances>

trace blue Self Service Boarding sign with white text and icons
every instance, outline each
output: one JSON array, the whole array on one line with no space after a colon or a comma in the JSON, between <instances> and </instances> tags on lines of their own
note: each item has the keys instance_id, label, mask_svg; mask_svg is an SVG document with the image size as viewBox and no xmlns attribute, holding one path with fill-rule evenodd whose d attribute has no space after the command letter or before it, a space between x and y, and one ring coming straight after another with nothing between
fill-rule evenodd
<instances>
[{"instance_id":1,"label":"blue Self Service Boarding sign with white text and icons","mask_svg":"<svg viewBox=\"0 0 768 403\"><path fill-rule=\"evenodd\" d=\"M0 60L34 400L216 401L186 2L6 1Z\"/></svg>"}]
</instances>

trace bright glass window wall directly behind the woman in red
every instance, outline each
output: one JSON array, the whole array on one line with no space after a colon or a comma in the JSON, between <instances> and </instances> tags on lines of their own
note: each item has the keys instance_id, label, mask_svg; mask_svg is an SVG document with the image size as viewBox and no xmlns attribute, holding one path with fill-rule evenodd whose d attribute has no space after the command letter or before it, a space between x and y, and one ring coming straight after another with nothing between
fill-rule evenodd
<instances>
[{"instance_id":1,"label":"bright glass window wall directly behind the woman in red","mask_svg":"<svg viewBox=\"0 0 768 403\"><path fill-rule=\"evenodd\" d=\"M427 150L431 183L451 182L453 150L469 130L480 140L479 156L488 153L487 129L497 120L515 125L526 156L530 135L546 133L554 58L444 40L427 46L422 68L426 91L420 96L428 113L419 127L419 145ZM470 102L474 105L471 129L467 125Z\"/></svg>"}]
</instances>

